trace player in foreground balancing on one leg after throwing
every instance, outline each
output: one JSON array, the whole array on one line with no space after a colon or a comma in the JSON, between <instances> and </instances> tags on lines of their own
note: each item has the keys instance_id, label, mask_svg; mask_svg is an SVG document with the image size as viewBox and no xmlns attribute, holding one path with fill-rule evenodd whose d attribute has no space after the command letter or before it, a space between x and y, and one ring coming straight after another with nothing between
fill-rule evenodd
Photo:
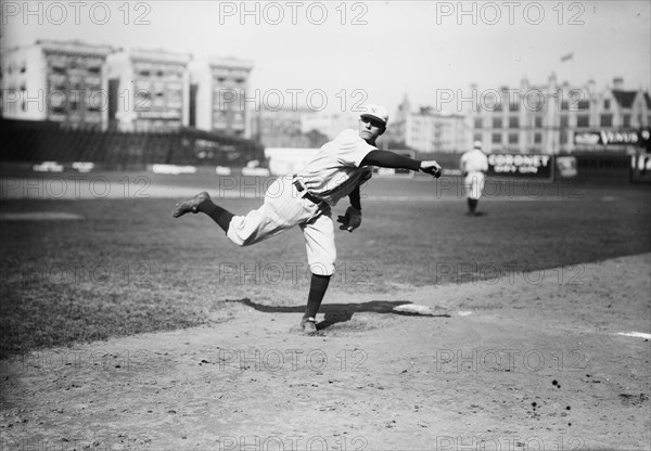
<instances>
[{"instance_id":1,"label":"player in foreground balancing on one leg after throwing","mask_svg":"<svg viewBox=\"0 0 651 451\"><path fill-rule=\"evenodd\" d=\"M441 176L441 166L434 160L420 162L378 150L375 140L386 130L387 121L384 106L367 105L357 131L342 131L323 144L302 170L277 178L267 189L263 206L244 216L235 216L215 205L205 191L178 203L173 216L204 212L239 246L259 243L298 226L305 237L311 272L307 307L299 327L306 334L314 333L317 331L315 318L334 273L336 259L331 207L342 197L349 198L350 206L337 221L342 223L341 230L353 232L361 224L359 186L371 178L372 166Z\"/></svg>"}]
</instances>

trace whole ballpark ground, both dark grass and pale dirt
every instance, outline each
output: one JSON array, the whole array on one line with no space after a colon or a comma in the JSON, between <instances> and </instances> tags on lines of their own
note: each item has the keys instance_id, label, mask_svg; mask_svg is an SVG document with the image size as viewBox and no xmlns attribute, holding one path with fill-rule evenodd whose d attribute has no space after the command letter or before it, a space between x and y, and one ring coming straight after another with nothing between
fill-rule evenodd
<instances>
[{"instance_id":1,"label":"whole ballpark ground, both dark grass and pale dirt","mask_svg":"<svg viewBox=\"0 0 651 451\"><path fill-rule=\"evenodd\" d=\"M372 180L305 336L298 230L170 215L266 179L3 176L8 448L649 450L648 185Z\"/></svg>"}]
</instances>

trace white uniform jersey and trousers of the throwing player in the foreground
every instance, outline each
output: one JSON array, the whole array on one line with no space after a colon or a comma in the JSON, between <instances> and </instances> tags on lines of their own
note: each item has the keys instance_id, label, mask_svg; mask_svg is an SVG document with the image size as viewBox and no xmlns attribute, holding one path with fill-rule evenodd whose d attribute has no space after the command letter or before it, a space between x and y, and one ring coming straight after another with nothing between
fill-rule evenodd
<instances>
[{"instance_id":1,"label":"white uniform jersey and trousers of the throwing player in the foreground","mask_svg":"<svg viewBox=\"0 0 651 451\"><path fill-rule=\"evenodd\" d=\"M234 216L227 236L239 246L247 246L298 226L305 236L310 271L319 275L333 274L336 248L330 207L350 194L360 181L371 178L372 167L359 167L359 164L376 149L357 131L342 131L323 144L296 175L276 179L267 189L260 208L246 216ZM295 181L306 190L299 192ZM322 202L310 202L304 197L306 193Z\"/></svg>"}]
</instances>

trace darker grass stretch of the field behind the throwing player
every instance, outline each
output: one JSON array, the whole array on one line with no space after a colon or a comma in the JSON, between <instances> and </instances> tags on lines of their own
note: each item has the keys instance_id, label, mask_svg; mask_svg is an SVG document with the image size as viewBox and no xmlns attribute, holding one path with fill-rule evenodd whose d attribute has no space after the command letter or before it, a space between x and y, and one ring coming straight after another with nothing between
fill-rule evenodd
<instances>
[{"instance_id":1,"label":"darker grass stretch of the field behind the throwing player","mask_svg":"<svg viewBox=\"0 0 651 451\"><path fill-rule=\"evenodd\" d=\"M124 175L102 177L125 189ZM0 221L2 357L221 321L227 299L304 304L308 279L297 229L238 248L205 216L173 219L177 199L159 197L200 186L219 194L227 184L175 176L148 176L138 184L137 175L128 177L137 182L131 188L145 188L143 196L53 201L44 198L46 178L39 179L40 192L33 186L36 198L1 202L5 216L82 218ZM238 197L244 192L255 197L266 183L243 180L237 179L222 202L235 214L258 206L259 198ZM5 197L16 186L3 182ZM176 191L165 191L170 186ZM337 231L333 284L354 301L355 293L391 294L405 284L445 285L523 271L557 276L544 270L562 266L575 271L564 276L580 276L586 262L651 250L648 186L490 181L486 192L480 203L484 215L471 218L454 179L373 180L362 192L361 228ZM342 202L333 216L346 206ZM288 291L291 298L277 297Z\"/></svg>"}]
</instances>

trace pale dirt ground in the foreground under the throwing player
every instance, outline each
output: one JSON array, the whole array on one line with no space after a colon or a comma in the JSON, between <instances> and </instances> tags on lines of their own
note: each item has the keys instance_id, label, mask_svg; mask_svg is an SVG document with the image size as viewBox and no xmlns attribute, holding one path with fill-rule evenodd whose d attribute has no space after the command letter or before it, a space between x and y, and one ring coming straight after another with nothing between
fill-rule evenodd
<instances>
[{"instance_id":1,"label":"pale dirt ground in the foreground under the throwing player","mask_svg":"<svg viewBox=\"0 0 651 451\"><path fill-rule=\"evenodd\" d=\"M651 332L650 271L334 286L312 337L298 307L231 299L209 326L13 357L2 449L649 449L650 343L617 334Z\"/></svg>"}]
</instances>

